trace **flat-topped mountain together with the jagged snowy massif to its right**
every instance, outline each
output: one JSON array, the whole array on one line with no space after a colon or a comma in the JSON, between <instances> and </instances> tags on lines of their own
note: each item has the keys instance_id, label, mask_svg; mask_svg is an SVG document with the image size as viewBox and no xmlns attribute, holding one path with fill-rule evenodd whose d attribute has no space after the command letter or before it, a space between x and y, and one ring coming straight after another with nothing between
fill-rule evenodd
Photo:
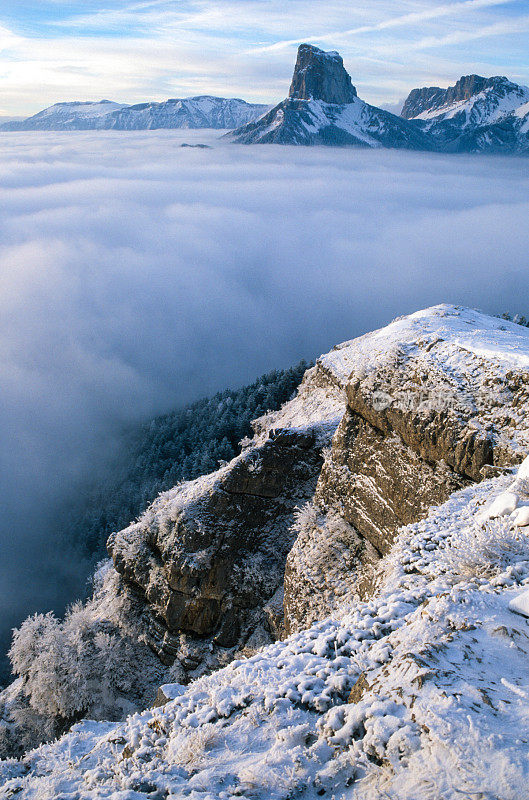
<instances>
[{"instance_id":1,"label":"flat-topped mountain together with the jagged snowy massif to its right","mask_svg":"<svg viewBox=\"0 0 529 800\"><path fill-rule=\"evenodd\" d=\"M358 97L338 53L302 44L288 98L230 136L244 144L529 153L529 88L470 75L448 89L414 89L396 116Z\"/></svg>"}]
</instances>

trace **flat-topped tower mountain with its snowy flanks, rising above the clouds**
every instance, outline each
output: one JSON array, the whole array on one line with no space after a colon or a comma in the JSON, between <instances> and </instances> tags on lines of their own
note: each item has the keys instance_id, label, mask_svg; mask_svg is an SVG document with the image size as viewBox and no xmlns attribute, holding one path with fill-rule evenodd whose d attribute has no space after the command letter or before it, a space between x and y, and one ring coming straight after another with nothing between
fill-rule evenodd
<instances>
[{"instance_id":1,"label":"flat-topped tower mountain with its snowy flanks, rising above the clouds","mask_svg":"<svg viewBox=\"0 0 529 800\"><path fill-rule=\"evenodd\" d=\"M242 144L430 148L418 126L357 97L338 53L309 44L299 47L289 97L230 138Z\"/></svg>"}]
</instances>

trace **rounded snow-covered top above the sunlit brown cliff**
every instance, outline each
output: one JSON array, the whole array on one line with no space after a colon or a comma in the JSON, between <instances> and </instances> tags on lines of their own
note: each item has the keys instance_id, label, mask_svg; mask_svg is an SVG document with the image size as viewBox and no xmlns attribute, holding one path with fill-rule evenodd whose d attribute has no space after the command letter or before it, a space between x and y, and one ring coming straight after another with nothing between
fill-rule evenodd
<instances>
[{"instance_id":1,"label":"rounded snow-covered top above the sunlit brown cliff","mask_svg":"<svg viewBox=\"0 0 529 800\"><path fill-rule=\"evenodd\" d=\"M390 380L396 375L392 396L379 398L382 407L409 403L417 375L427 376L424 403L416 408L419 416L430 408L458 409L471 427L488 433L507 459L529 452L529 329L521 325L441 304L344 342L318 364L340 380L375 368L387 369Z\"/></svg>"}]
</instances>

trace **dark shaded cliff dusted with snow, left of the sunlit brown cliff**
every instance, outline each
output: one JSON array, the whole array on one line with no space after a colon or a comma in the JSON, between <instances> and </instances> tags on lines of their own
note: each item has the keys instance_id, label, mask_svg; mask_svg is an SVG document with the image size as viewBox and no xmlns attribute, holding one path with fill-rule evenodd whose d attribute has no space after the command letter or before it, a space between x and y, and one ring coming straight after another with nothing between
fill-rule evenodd
<instances>
[{"instance_id":1,"label":"dark shaded cliff dusted with snow, left of the sunlit brown cliff","mask_svg":"<svg viewBox=\"0 0 529 800\"><path fill-rule=\"evenodd\" d=\"M109 541L116 570L145 593L164 631L164 659L174 660L182 631L234 647L266 623L293 509L312 496L320 467L313 431L273 431L213 480L162 495Z\"/></svg>"}]
</instances>

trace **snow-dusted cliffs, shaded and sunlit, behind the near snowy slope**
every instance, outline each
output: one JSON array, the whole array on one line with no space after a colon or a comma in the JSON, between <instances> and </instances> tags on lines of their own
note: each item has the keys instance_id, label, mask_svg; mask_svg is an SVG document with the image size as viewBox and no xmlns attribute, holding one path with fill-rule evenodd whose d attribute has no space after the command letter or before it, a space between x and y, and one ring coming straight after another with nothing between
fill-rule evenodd
<instances>
[{"instance_id":1,"label":"snow-dusted cliffs, shaded and sunlit, behind the near snowy slope","mask_svg":"<svg viewBox=\"0 0 529 800\"><path fill-rule=\"evenodd\" d=\"M58 634L82 668L84 626L97 645L87 686L106 669L115 716L142 698L152 704L160 684L185 685L370 596L403 526L426 524L456 490L523 459L528 412L520 325L442 305L338 345L296 397L256 421L239 456L160 495L110 538L103 588ZM525 477L519 486L527 494ZM27 661L49 669L52 640L37 630L48 623L37 622ZM53 647L64 672L67 651ZM119 669L108 668L112 653ZM17 714L35 707L31 681L42 685L39 669L19 672L18 688L0 697L8 748ZM76 679L68 691L77 700ZM107 709L109 692L100 694ZM75 710L98 718L91 702ZM46 715L39 725L46 736L57 729Z\"/></svg>"}]
</instances>

